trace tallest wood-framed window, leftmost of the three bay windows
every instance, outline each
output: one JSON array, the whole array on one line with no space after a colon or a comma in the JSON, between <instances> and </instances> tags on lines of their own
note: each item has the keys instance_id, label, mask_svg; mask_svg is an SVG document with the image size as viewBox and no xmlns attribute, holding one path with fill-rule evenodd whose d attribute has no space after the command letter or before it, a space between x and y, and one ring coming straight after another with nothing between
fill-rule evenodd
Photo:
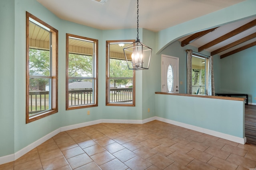
<instances>
[{"instance_id":1,"label":"tallest wood-framed window, leftmost of the three bay windows","mask_svg":"<svg viewBox=\"0 0 256 170\"><path fill-rule=\"evenodd\" d=\"M26 123L58 112L58 30L26 12Z\"/></svg>"}]
</instances>

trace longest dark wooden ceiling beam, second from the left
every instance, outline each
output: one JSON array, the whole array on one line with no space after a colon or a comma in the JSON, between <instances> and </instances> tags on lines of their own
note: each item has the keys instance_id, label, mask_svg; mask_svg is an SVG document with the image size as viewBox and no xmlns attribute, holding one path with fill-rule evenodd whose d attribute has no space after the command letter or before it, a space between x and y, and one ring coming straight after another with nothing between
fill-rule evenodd
<instances>
[{"instance_id":1,"label":"longest dark wooden ceiling beam, second from the left","mask_svg":"<svg viewBox=\"0 0 256 170\"><path fill-rule=\"evenodd\" d=\"M221 37L218 37L217 39L214 39L213 41L201 46L198 48L198 52L203 51L204 49L208 49L209 47L212 47L226 39L229 39L230 37L233 37L234 35L241 33L251 27L254 27L256 25L256 20L252 20L241 27L238 27L234 29L233 31L230 31L229 33L226 33L225 35L222 35Z\"/></svg>"}]
</instances>

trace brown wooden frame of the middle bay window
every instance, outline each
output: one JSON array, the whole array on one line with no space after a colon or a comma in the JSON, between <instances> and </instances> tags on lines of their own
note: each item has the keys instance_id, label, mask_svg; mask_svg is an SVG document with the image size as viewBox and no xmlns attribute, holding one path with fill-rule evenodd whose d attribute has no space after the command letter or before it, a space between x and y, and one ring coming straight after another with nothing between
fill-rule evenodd
<instances>
[{"instance_id":1,"label":"brown wooden frame of the middle bay window","mask_svg":"<svg viewBox=\"0 0 256 170\"><path fill-rule=\"evenodd\" d=\"M84 39L86 41L93 41L96 43L95 45L95 50L93 51L93 64L92 66L92 77L94 77L92 80L94 80L94 89L93 89L93 94L94 94L94 103L93 104L84 104L84 105L76 105L76 106L69 106L69 93L68 93L68 64L69 64L69 37L74 37L78 39ZM79 77L78 77L79 78ZM96 107L98 106L98 40L97 39L92 39L88 37L82 37L79 35L74 35L70 33L66 33L66 110L72 110L72 109L81 109L81 108L88 108L88 107Z\"/></svg>"}]
</instances>

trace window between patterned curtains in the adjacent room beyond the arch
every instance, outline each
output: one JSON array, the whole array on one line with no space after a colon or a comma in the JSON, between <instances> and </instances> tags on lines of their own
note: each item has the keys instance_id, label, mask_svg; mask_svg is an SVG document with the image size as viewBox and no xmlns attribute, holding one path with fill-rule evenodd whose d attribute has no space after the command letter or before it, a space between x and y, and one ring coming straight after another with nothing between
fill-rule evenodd
<instances>
[{"instance_id":1,"label":"window between patterned curtains in the adjacent room beyond the arch","mask_svg":"<svg viewBox=\"0 0 256 170\"><path fill-rule=\"evenodd\" d=\"M208 94L208 58L192 54L192 94Z\"/></svg>"}]
</instances>

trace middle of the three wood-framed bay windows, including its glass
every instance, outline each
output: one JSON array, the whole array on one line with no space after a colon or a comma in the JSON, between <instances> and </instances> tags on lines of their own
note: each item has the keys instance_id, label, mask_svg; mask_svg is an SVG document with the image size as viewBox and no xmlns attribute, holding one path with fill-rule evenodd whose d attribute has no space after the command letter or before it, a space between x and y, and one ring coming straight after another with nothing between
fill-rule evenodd
<instances>
[{"instance_id":1,"label":"middle of the three wood-framed bay windows, including its glass","mask_svg":"<svg viewBox=\"0 0 256 170\"><path fill-rule=\"evenodd\" d=\"M66 34L66 109L98 106L98 40Z\"/></svg>"}]
</instances>

